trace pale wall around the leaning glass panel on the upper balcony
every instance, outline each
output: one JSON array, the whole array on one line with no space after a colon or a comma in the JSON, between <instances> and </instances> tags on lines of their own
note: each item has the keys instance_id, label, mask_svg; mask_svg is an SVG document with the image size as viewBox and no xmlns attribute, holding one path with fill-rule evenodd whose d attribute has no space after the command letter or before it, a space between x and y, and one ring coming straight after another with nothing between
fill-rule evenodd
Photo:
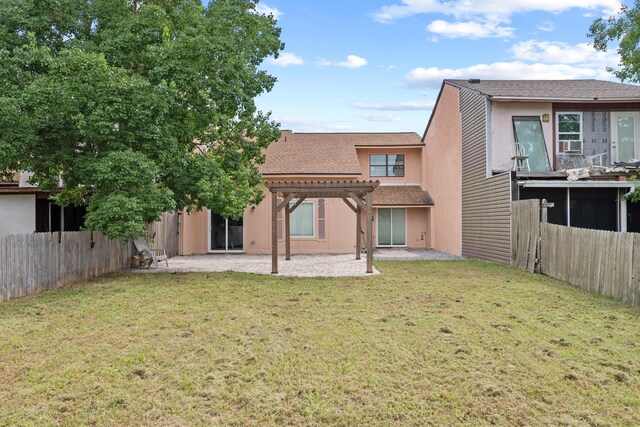
<instances>
[{"instance_id":1,"label":"pale wall around the leaning glass panel on the upper balcony","mask_svg":"<svg viewBox=\"0 0 640 427\"><path fill-rule=\"evenodd\" d=\"M513 134L514 116L538 116L549 114L549 121L542 122L542 132L547 146L549 164L553 167L553 111L552 104L534 102L494 102L491 107L491 159L492 169L508 171L515 151Z\"/></svg>"}]
</instances>

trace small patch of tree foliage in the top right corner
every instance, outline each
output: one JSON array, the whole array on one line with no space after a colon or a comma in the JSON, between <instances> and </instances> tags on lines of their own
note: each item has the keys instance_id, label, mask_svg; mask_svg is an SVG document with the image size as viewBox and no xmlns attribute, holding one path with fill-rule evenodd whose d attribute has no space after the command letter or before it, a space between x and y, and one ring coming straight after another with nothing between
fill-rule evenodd
<instances>
[{"instance_id":1,"label":"small patch of tree foliage in the top right corner","mask_svg":"<svg viewBox=\"0 0 640 427\"><path fill-rule=\"evenodd\" d=\"M587 37L593 39L593 47L606 52L610 43L618 44L619 69L608 67L622 81L640 82L640 1L632 7L622 5L617 16L596 19Z\"/></svg>"}]
</instances>

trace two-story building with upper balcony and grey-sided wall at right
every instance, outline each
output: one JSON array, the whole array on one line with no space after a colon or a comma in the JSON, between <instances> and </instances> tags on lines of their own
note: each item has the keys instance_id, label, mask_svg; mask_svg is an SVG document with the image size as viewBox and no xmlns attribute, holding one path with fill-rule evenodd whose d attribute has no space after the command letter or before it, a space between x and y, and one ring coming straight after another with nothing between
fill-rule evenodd
<instances>
[{"instance_id":1,"label":"two-story building with upper balcony and grey-sided wall at right","mask_svg":"<svg viewBox=\"0 0 640 427\"><path fill-rule=\"evenodd\" d=\"M598 80L445 80L425 130L433 248L508 264L511 201L549 221L640 231L621 196L640 158L640 87Z\"/></svg>"}]
</instances>

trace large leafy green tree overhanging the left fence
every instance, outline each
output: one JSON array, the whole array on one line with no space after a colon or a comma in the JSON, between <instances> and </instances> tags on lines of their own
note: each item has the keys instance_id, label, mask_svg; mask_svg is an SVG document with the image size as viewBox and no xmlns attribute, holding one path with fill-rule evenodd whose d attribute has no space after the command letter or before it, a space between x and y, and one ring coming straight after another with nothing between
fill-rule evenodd
<instances>
[{"instance_id":1,"label":"large leafy green tree overhanging the left fence","mask_svg":"<svg viewBox=\"0 0 640 427\"><path fill-rule=\"evenodd\" d=\"M278 137L254 100L284 46L256 3L1 0L0 173L33 172L110 237L172 209L239 217Z\"/></svg>"}]
</instances>

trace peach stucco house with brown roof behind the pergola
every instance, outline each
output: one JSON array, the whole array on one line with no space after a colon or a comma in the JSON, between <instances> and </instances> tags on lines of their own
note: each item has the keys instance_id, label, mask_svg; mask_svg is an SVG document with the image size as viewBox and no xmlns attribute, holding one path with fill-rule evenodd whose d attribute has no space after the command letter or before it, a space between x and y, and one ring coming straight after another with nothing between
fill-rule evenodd
<instances>
[{"instance_id":1,"label":"peach stucco house with brown roof behind the pergola","mask_svg":"<svg viewBox=\"0 0 640 427\"><path fill-rule=\"evenodd\" d=\"M267 148L260 170L267 182L379 180L373 192L374 244L430 248L433 200L426 191L424 154L416 133L283 131ZM271 198L264 191L265 199L248 206L239 221L210 211L183 215L180 254L270 253ZM352 253L355 227L355 214L342 200L304 200L291 215L292 253ZM282 218L278 236L283 241ZM284 251L284 244L278 246Z\"/></svg>"}]
</instances>

